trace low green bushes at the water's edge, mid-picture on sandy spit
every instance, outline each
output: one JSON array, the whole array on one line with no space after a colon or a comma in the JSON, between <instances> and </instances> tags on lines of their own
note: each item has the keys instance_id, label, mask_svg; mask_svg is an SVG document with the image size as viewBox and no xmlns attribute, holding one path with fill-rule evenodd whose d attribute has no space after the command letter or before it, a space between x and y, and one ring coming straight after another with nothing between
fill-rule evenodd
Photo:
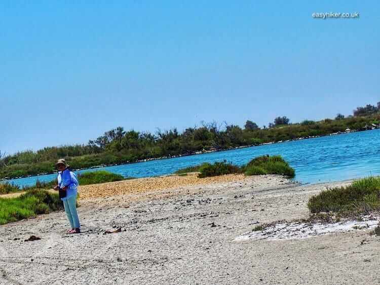
<instances>
[{"instance_id":1,"label":"low green bushes at the water's edge, mid-picture on sandy spit","mask_svg":"<svg viewBox=\"0 0 380 285\"><path fill-rule=\"evenodd\" d=\"M281 174L294 177L295 171L281 156L259 156L252 159L246 165L236 166L223 162L203 163L179 169L175 173L200 172L198 177L217 176L230 173L244 173L246 175Z\"/></svg>"}]
</instances>

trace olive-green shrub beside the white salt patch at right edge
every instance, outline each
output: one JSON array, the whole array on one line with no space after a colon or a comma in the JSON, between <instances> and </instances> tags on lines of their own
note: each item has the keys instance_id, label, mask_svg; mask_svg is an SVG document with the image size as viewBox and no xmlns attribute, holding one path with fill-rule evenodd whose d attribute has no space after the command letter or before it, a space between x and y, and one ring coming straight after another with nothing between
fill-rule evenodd
<instances>
[{"instance_id":1,"label":"olive-green shrub beside the white salt patch at right edge","mask_svg":"<svg viewBox=\"0 0 380 285\"><path fill-rule=\"evenodd\" d=\"M365 215L380 209L380 176L322 191L309 199L312 213L335 212L340 216Z\"/></svg>"}]
</instances>

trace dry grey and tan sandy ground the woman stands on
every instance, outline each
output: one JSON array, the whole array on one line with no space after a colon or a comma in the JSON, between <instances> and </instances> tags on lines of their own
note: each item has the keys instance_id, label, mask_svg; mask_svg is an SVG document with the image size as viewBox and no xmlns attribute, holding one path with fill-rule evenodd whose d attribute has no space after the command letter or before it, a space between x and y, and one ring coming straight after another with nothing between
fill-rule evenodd
<instances>
[{"instance_id":1,"label":"dry grey and tan sandy ground the woman stands on","mask_svg":"<svg viewBox=\"0 0 380 285\"><path fill-rule=\"evenodd\" d=\"M368 230L236 241L256 225L308 217L311 195L348 182L298 185L264 175L144 191L133 191L130 182L93 186L92 194L81 188L80 235L64 234L63 212L1 226L0 283L369 284L380 279L380 239ZM105 197L108 191L118 195ZM118 228L122 231L103 234ZM31 235L41 240L25 242Z\"/></svg>"}]
</instances>

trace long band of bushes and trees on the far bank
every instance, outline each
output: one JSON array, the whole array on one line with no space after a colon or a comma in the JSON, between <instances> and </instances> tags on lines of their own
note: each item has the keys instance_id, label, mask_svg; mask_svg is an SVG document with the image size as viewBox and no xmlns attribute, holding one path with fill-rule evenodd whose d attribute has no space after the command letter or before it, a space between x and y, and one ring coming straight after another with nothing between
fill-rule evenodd
<instances>
[{"instance_id":1,"label":"long band of bushes and trees on the far bank","mask_svg":"<svg viewBox=\"0 0 380 285\"><path fill-rule=\"evenodd\" d=\"M54 163L64 158L72 169L83 169L99 165L131 163L145 159L191 155L204 150L227 150L241 146L257 146L267 142L286 141L297 138L323 136L351 130L371 129L380 121L380 104L366 105L354 110L354 116L341 114L335 120L305 120L290 123L280 116L259 128L247 121L244 129L238 125L202 123L199 127L187 128L182 133L177 129L149 132L125 131L117 127L105 132L87 145L48 147L42 150L24 151L14 155L0 152L0 178L20 177L40 173L53 173ZM258 169L252 169L253 173Z\"/></svg>"}]
</instances>

